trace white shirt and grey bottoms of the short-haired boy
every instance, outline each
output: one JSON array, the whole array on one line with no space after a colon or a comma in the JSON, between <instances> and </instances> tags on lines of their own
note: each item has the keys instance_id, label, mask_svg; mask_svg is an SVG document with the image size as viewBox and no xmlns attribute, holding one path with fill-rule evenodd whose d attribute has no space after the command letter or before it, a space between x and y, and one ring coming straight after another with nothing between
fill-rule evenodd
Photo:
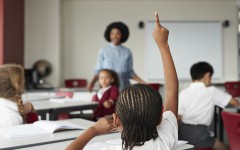
<instances>
[{"instance_id":1,"label":"white shirt and grey bottoms of the short-haired boy","mask_svg":"<svg viewBox=\"0 0 240 150\"><path fill-rule=\"evenodd\" d=\"M178 114L182 115L179 139L186 140L196 148L213 147L215 138L209 130L214 106L224 108L232 96L214 86L206 87L203 82L194 82L179 95Z\"/></svg>"}]
</instances>

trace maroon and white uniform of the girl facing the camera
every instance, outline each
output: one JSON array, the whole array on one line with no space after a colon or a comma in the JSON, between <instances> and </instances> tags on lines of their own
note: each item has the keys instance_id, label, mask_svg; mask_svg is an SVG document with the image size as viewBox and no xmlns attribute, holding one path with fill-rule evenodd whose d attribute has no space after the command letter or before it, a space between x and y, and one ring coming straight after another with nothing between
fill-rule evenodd
<instances>
[{"instance_id":1,"label":"maroon and white uniform of the girl facing the camera","mask_svg":"<svg viewBox=\"0 0 240 150\"><path fill-rule=\"evenodd\" d=\"M96 95L93 96L93 101L98 102L98 106L93 111L94 119L104 117L106 115L111 115L115 112L116 101L118 98L118 88L116 86L108 86L106 88L101 88ZM103 103L106 100L111 100L112 106L110 108L105 108Z\"/></svg>"}]
</instances>

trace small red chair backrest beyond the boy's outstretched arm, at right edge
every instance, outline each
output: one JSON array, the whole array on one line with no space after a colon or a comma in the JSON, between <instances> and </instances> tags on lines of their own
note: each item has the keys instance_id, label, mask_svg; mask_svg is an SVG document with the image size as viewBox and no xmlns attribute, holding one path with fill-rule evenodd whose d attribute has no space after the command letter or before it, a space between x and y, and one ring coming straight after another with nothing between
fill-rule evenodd
<instances>
[{"instance_id":1,"label":"small red chair backrest beyond the boy's outstretched arm, at right edge","mask_svg":"<svg viewBox=\"0 0 240 150\"><path fill-rule=\"evenodd\" d=\"M240 96L240 81L237 82L225 82L226 91L233 97Z\"/></svg>"}]
</instances>

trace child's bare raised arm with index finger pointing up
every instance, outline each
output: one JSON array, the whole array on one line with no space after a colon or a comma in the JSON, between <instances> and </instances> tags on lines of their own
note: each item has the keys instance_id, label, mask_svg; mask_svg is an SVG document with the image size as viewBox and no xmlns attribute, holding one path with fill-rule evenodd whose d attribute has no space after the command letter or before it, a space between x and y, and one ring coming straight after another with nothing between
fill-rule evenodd
<instances>
[{"instance_id":1,"label":"child's bare raised arm with index finger pointing up","mask_svg":"<svg viewBox=\"0 0 240 150\"><path fill-rule=\"evenodd\" d=\"M155 13L156 26L153 31L153 37L159 48L166 85L166 98L164 111L172 111L176 117L178 112L178 78L171 52L168 45L168 30L164 28L159 21L158 14Z\"/></svg>"}]
</instances>

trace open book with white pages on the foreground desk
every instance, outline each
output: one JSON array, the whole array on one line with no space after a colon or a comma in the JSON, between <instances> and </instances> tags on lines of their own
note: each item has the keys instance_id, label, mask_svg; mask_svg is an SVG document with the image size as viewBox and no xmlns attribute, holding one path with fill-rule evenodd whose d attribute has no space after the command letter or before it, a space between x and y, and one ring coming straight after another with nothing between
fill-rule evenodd
<instances>
[{"instance_id":1,"label":"open book with white pages on the foreground desk","mask_svg":"<svg viewBox=\"0 0 240 150\"><path fill-rule=\"evenodd\" d=\"M0 133L9 139L51 134L59 130L86 129L69 121L36 121L33 124L23 124L0 128Z\"/></svg>"}]
</instances>

